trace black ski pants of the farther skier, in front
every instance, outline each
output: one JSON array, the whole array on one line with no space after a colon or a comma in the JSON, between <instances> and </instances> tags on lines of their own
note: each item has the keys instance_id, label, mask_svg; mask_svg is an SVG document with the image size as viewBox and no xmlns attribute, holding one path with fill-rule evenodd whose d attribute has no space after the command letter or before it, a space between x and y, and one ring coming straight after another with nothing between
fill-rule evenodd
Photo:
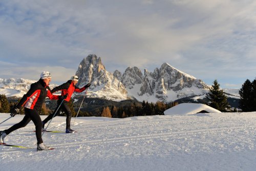
<instances>
[{"instance_id":1,"label":"black ski pants of the farther skier, in front","mask_svg":"<svg viewBox=\"0 0 256 171\"><path fill-rule=\"evenodd\" d=\"M51 113L49 116L47 116L47 118L45 118L45 120L43 120L42 122L44 124L46 124L49 120L52 119L53 115L55 114L56 110L58 109L60 103L61 103L62 100L58 100L57 101L57 107L55 108L54 112ZM70 121L71 121L71 117L72 117L72 113L71 113L71 110L70 110L70 107L68 105L68 102L67 101L63 101L63 103L61 104L61 106L59 107L59 110L56 112L55 116L59 115L60 111L63 111L66 113L67 115L67 118L66 118L66 129L70 129ZM54 117L55 117L54 116Z\"/></svg>"}]
</instances>

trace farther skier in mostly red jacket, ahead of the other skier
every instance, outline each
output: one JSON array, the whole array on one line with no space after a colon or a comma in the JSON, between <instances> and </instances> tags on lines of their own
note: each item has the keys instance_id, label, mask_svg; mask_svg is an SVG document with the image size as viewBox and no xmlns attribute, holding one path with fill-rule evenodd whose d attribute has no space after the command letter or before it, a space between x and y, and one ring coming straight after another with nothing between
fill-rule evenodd
<instances>
[{"instance_id":1,"label":"farther skier in mostly red jacket, ahead of the other skier","mask_svg":"<svg viewBox=\"0 0 256 171\"><path fill-rule=\"evenodd\" d=\"M55 111L52 114L50 114L45 120L42 121L42 130L45 130L44 129L45 128L45 124L49 120L52 119L54 113L56 112L56 114L54 115L54 117L55 117L62 110L62 111L64 111L67 114L67 118L66 118L66 133L74 133L75 132L74 130L72 130L70 128L70 121L71 121L72 113L71 113L70 107L68 105L68 102L70 101L71 96L72 96L74 91L82 92L83 90L85 90L86 88L90 87L90 85L91 85L90 83L88 83L84 87L78 88L78 87L75 86L77 84L77 82L78 82L78 77L77 76L72 76L71 79L68 82L66 82L64 84L61 84L60 86L57 86L57 87L52 89L52 93L61 90L61 95L62 96L67 96L67 97L66 97L65 101L63 101L61 106L59 107L59 110L56 112L57 107L61 103L61 100L57 101L57 107L56 107Z\"/></svg>"}]
</instances>

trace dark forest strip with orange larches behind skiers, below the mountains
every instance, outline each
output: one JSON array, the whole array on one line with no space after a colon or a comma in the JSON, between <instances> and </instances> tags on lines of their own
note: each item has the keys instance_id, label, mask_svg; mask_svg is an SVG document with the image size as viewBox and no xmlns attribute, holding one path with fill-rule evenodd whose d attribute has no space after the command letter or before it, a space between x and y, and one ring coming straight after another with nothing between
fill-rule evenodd
<instances>
[{"instance_id":1,"label":"dark forest strip with orange larches behind skiers, below the mountains","mask_svg":"<svg viewBox=\"0 0 256 171\"><path fill-rule=\"evenodd\" d=\"M0 113L10 113L10 110L14 105L17 104L19 100L16 102L8 102L6 95L0 94ZM72 116L77 115L77 111L73 106L74 100L72 99L68 105L71 109ZM146 116L146 115L163 115L164 111L168 108L178 105L177 102L164 103L164 102L156 102L156 103L148 103L143 101L142 103L132 103L131 105L124 106L102 106L101 108L95 109L93 112L87 111L79 111L77 116L103 116L103 117L114 117L114 118L125 118L132 116ZM38 111L40 115L48 115L53 110L50 110L47 107L46 103L42 105L42 108ZM20 114L24 114L24 108L21 108L19 111ZM64 112L59 114L60 116L65 116Z\"/></svg>"}]
</instances>

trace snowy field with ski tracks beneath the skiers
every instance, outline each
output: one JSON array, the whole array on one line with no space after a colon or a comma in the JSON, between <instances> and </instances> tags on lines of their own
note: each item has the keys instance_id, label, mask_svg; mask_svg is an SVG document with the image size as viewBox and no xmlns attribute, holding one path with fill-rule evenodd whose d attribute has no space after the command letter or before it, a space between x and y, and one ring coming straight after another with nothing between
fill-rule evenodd
<instances>
[{"instance_id":1,"label":"snowy field with ski tracks beneath the skiers","mask_svg":"<svg viewBox=\"0 0 256 171\"><path fill-rule=\"evenodd\" d=\"M8 117L0 113L0 122ZM48 130L65 131L65 120L55 117ZM1 145L0 170L256 170L256 112L80 117L71 128L78 133L45 133L55 150L39 152L32 121L12 132L6 143L33 149Z\"/></svg>"}]
</instances>

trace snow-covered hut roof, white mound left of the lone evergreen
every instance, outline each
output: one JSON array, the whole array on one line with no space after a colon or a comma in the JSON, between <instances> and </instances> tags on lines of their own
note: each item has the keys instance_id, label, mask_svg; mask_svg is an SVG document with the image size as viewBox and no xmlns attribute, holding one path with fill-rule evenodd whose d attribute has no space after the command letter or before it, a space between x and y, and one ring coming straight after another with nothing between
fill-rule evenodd
<instances>
[{"instance_id":1,"label":"snow-covered hut roof, white mound left of the lone evergreen","mask_svg":"<svg viewBox=\"0 0 256 171\"><path fill-rule=\"evenodd\" d=\"M164 111L165 115L189 115L196 114L201 111L209 113L221 113L221 111L204 104L182 103Z\"/></svg>"}]
</instances>

